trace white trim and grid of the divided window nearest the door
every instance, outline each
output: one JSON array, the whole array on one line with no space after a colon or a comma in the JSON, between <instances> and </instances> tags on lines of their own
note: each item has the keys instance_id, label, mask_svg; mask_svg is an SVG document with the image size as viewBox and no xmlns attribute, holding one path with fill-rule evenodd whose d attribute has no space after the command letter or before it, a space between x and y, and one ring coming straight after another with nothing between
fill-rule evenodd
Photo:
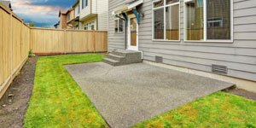
<instances>
[{"instance_id":1,"label":"white trim and grid of the divided window nearest the door","mask_svg":"<svg viewBox=\"0 0 256 128\"><path fill-rule=\"evenodd\" d=\"M177 3L171 3L171 4L168 4L168 5L166 5L166 0L164 0L164 5L163 6L161 6L161 7L157 7L157 8L154 8L154 3L156 3L156 2L159 2L160 0L154 0L153 2L152 2L152 41L163 41L163 42L180 42L180 35L181 35L181 22L180 22L180 20L181 20L181 15L180 15L180 5L181 5L181 0L179 0L179 2L177 2ZM166 7L170 7L170 6L174 6L174 5L179 5L179 8L178 8L178 18L179 18L179 20L178 20L178 25L179 25L179 27L178 27L178 40L168 40L168 39L166 39ZM164 8L164 23L165 23L165 26L164 26L164 39L154 39L154 10L156 10L156 9L162 9L162 8Z\"/></svg>"}]
</instances>

